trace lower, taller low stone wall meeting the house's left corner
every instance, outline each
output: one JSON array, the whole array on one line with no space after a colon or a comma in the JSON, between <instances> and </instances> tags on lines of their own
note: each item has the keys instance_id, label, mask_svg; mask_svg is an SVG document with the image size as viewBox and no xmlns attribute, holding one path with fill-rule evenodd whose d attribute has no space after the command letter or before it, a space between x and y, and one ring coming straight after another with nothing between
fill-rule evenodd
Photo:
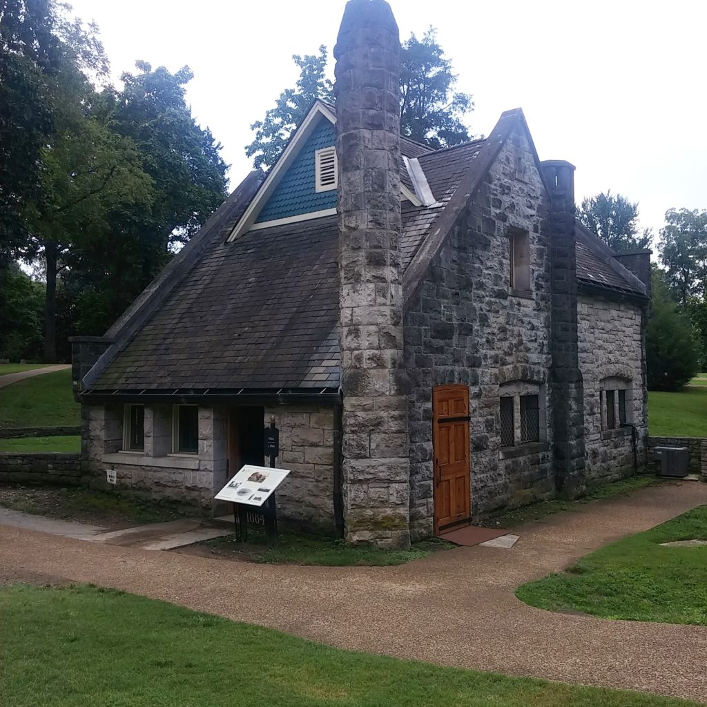
<instances>
[{"instance_id":1,"label":"lower, taller low stone wall meeting the house's left corner","mask_svg":"<svg viewBox=\"0 0 707 707\"><path fill-rule=\"evenodd\" d=\"M0 453L0 484L81 485L81 455Z\"/></svg>"}]
</instances>

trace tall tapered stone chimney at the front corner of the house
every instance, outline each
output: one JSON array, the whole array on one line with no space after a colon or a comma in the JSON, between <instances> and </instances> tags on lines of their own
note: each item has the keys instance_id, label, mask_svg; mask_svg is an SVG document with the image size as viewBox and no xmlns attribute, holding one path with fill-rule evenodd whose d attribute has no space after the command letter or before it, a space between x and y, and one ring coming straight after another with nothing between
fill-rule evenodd
<instances>
[{"instance_id":1,"label":"tall tapered stone chimney at the front corner of the house","mask_svg":"<svg viewBox=\"0 0 707 707\"><path fill-rule=\"evenodd\" d=\"M344 515L348 542L409 547L399 238L399 51L384 0L350 0L336 64Z\"/></svg>"}]
</instances>

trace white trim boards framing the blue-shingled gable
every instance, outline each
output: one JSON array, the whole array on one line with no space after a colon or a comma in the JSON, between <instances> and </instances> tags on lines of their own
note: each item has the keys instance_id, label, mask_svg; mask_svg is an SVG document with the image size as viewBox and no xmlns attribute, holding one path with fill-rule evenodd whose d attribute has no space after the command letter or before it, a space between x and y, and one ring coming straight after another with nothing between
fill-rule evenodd
<instances>
[{"instance_id":1,"label":"white trim boards framing the blue-shingled gable","mask_svg":"<svg viewBox=\"0 0 707 707\"><path fill-rule=\"evenodd\" d=\"M325 105L325 103L322 103L322 101L317 100L312 106L310 112L308 112L307 116L300 124L300 126L296 129L295 134L288 142L286 148L282 152L281 156L278 158L277 162L274 164L273 168L271 168L269 174L265 178L265 181L262 183L262 185L260 185L260 188L256 192L255 197L253 197L252 201L248 205L248 208L245 209L243 216L240 217L240 220L235 225L230 235L226 239L226 243L233 243L236 238L243 235L244 233L247 233L249 230L256 230L259 228L270 228L270 226L275 226L283 222L297 223L297 221L307 221L310 218L319 218L320 216L329 215L325 214L323 211L315 211L312 214L301 214L300 216L289 217L295 219L294 221L287 221L286 218L279 218L276 219L276 221L265 222L267 223L267 226L265 225L265 223L255 223L255 220L257 219L262 207L267 202L267 199L269 199L271 194L274 192L277 185L279 185L288 167L293 163L293 160L298 155L301 145L306 139L308 139L310 134L312 134L316 127L317 120L322 115L327 118L327 120L332 122L332 124L337 124L336 114L331 110L331 108L329 108L329 106ZM423 205L423 200L420 199L417 194L412 192L404 184L400 185L400 194L402 199L407 199L413 206ZM327 209L327 212L328 211L329 209Z\"/></svg>"}]
</instances>

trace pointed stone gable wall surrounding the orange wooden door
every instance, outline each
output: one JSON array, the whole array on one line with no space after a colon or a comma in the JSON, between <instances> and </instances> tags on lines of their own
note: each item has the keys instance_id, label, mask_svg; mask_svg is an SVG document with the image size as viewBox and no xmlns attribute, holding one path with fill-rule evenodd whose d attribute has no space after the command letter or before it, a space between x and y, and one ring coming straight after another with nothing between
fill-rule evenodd
<instances>
[{"instance_id":1,"label":"pointed stone gable wall surrounding the orange wooden door","mask_svg":"<svg viewBox=\"0 0 707 707\"><path fill-rule=\"evenodd\" d=\"M470 388L472 515L554 495L550 349L549 238L544 187L532 146L514 134L472 204L460 214L404 320L409 396L411 529L433 528L432 389ZM530 296L510 290L509 228L530 235ZM544 387L545 445L501 452L500 387L525 381ZM506 458L501 458L501 457Z\"/></svg>"}]
</instances>

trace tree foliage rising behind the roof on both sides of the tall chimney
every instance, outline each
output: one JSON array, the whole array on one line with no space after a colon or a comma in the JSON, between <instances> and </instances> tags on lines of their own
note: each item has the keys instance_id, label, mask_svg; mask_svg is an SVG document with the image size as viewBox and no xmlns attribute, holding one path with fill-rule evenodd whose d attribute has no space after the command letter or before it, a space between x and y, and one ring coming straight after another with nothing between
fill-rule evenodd
<instances>
[{"instance_id":1,"label":"tree foliage rising behind the roof on both sides of the tall chimney","mask_svg":"<svg viewBox=\"0 0 707 707\"><path fill-rule=\"evenodd\" d=\"M251 125L255 140L245 148L255 168L273 165L294 129L318 98L334 101L334 87L326 78L327 47L318 54L293 57L300 69L295 88L284 90L263 120ZM400 54L400 134L432 148L469 140L462 119L474 109L472 96L455 93L452 64L430 28L419 40L403 42Z\"/></svg>"}]
</instances>

